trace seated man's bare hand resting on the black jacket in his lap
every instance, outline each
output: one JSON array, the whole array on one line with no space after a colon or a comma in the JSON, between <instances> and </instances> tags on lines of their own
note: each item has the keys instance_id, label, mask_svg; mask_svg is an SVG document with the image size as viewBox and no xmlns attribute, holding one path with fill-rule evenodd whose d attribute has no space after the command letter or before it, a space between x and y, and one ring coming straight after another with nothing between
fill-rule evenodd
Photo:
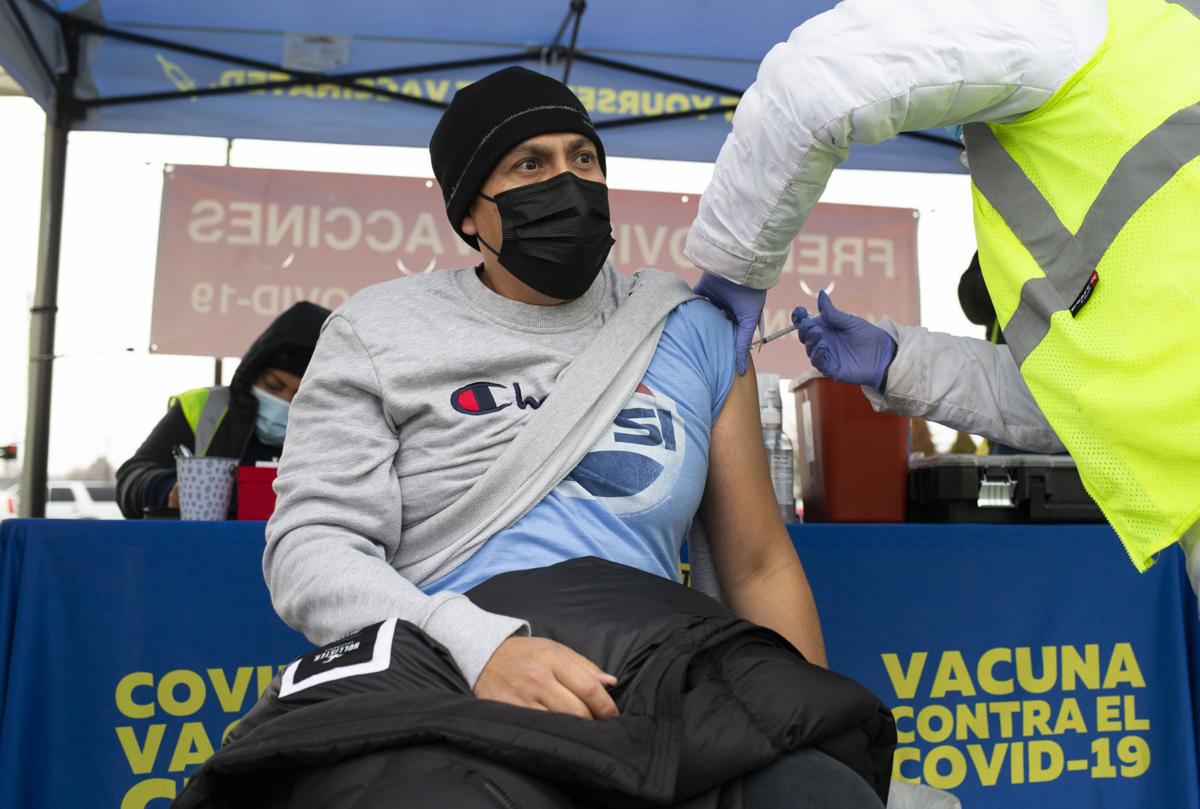
<instances>
[{"instance_id":1,"label":"seated man's bare hand resting on the black jacket in his lap","mask_svg":"<svg viewBox=\"0 0 1200 809\"><path fill-rule=\"evenodd\" d=\"M475 696L522 708L610 719L617 703L605 685L617 678L568 646L546 637L510 637L475 681Z\"/></svg>"}]
</instances>

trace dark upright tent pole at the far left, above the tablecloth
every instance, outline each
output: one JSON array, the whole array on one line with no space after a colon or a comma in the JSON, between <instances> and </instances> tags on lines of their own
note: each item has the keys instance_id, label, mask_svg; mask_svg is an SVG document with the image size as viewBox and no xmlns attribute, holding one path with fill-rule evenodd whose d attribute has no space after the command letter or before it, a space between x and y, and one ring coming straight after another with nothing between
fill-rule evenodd
<instances>
[{"instance_id":1,"label":"dark upright tent pole at the far left, above the tablecloth","mask_svg":"<svg viewBox=\"0 0 1200 809\"><path fill-rule=\"evenodd\" d=\"M70 119L46 118L42 157L42 212L37 245L37 286L29 311L29 406L25 415L25 463L20 473L20 516L46 516L46 468L50 443L50 378L54 370L54 322L58 313L62 191L67 168Z\"/></svg>"}]
</instances>

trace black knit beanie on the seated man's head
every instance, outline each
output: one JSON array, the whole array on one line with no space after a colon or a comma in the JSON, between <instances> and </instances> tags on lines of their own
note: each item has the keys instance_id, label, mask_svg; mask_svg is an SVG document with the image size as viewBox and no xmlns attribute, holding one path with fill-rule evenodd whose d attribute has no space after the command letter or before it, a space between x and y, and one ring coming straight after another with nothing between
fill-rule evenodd
<instances>
[{"instance_id":1,"label":"black knit beanie on the seated man's head","mask_svg":"<svg viewBox=\"0 0 1200 809\"><path fill-rule=\"evenodd\" d=\"M479 248L475 236L462 232L462 220L500 157L547 132L590 138L600 170L607 174L604 144L592 119L562 82L524 67L505 67L455 94L430 138L430 160L450 226L468 245Z\"/></svg>"}]
</instances>

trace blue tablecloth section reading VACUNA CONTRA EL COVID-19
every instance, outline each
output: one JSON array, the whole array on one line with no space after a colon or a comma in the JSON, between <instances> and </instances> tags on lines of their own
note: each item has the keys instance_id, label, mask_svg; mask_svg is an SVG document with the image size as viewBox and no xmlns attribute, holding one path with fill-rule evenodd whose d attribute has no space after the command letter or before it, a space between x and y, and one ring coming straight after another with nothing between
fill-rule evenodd
<instances>
[{"instance_id":1,"label":"blue tablecloth section reading VACUNA CONTRA EL COVID-19","mask_svg":"<svg viewBox=\"0 0 1200 809\"><path fill-rule=\"evenodd\" d=\"M968 809L1200 805L1196 599L1106 526L803 526L830 667Z\"/></svg>"}]
</instances>

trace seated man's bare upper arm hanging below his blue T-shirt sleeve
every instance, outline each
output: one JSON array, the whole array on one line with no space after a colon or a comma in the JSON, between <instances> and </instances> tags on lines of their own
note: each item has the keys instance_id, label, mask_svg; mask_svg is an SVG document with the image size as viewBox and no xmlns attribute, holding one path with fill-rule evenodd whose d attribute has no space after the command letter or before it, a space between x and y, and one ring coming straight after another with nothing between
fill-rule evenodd
<instances>
[{"instance_id":1,"label":"seated man's bare upper arm hanging below his blue T-shirt sleeve","mask_svg":"<svg viewBox=\"0 0 1200 809\"><path fill-rule=\"evenodd\" d=\"M701 517L726 604L826 665L812 591L770 486L751 373L734 376L713 425Z\"/></svg>"}]
</instances>

